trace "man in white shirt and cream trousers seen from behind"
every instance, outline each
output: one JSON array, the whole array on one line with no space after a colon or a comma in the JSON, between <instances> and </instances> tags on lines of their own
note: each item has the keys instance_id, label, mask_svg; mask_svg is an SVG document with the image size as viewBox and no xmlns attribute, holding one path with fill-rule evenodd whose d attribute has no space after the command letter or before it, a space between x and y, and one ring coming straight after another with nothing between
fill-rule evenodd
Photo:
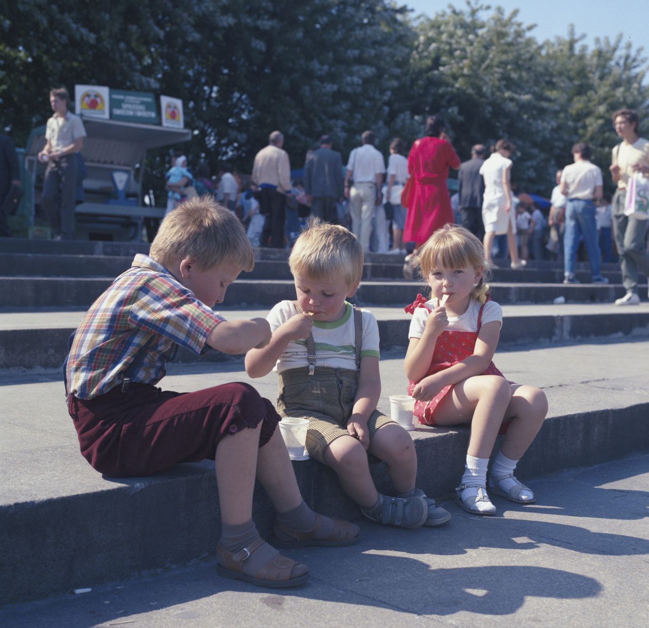
<instances>
[{"instance_id":1,"label":"man in white shirt and cream trousers seen from behind","mask_svg":"<svg viewBox=\"0 0 649 628\"><path fill-rule=\"evenodd\" d=\"M363 252L367 253L372 232L372 217L376 206L382 201L381 187L386 162L383 155L374 148L372 131L365 131L361 140L363 145L349 154L345 173L345 198L349 199L352 232L360 240Z\"/></svg>"}]
</instances>

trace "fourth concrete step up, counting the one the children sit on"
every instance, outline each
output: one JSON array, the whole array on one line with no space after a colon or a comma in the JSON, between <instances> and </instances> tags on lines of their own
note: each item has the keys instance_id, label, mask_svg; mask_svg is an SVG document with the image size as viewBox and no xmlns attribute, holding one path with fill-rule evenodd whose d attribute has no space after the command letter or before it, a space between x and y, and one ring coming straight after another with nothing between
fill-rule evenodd
<instances>
[{"instance_id":1,"label":"fourth concrete step up, counting the one the children sit on","mask_svg":"<svg viewBox=\"0 0 649 628\"><path fill-rule=\"evenodd\" d=\"M402 263L386 256L376 256L363 265L363 280L397 280L402 281ZM33 253L0 253L0 276L5 277L116 277L130 268L132 256L118 255L69 255L69 254L33 254ZM622 276L617 270L604 271L611 284L619 284ZM591 280L590 271L579 270L577 278L583 284ZM256 261L252 272L242 275L245 279L291 279L291 271L286 260ZM405 282L405 280L403 280ZM509 267L496 268L492 272L491 282L515 284L561 284L563 267L556 264L553 268L530 267L513 271Z\"/></svg>"}]
</instances>

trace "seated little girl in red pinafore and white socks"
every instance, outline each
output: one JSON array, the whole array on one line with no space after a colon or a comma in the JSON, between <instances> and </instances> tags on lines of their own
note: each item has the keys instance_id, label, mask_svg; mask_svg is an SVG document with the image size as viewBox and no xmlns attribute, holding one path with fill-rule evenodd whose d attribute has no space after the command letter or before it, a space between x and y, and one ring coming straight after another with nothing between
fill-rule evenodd
<instances>
[{"instance_id":1,"label":"seated little girl in red pinafore and white socks","mask_svg":"<svg viewBox=\"0 0 649 628\"><path fill-rule=\"evenodd\" d=\"M489 298L483 260L480 241L449 224L419 249L417 264L431 298L426 302L419 295L406 308L413 319L405 370L419 422L471 424L458 503L468 513L494 514L487 495L487 464L496 435L501 428L506 431L491 466L489 491L533 503L533 492L513 472L541 428L548 402L538 388L507 381L491 361L502 310Z\"/></svg>"}]
</instances>

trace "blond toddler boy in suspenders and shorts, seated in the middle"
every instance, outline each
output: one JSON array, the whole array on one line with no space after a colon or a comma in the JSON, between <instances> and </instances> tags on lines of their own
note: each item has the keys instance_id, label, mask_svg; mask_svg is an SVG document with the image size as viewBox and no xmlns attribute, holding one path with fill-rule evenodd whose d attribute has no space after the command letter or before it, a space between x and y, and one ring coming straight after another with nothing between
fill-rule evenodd
<instances>
[{"instance_id":1,"label":"blond toddler boy in suspenders and shorts, seated in the middle","mask_svg":"<svg viewBox=\"0 0 649 628\"><path fill-rule=\"evenodd\" d=\"M309 454L337 473L369 519L407 528L447 522L450 514L415 488L410 435L376 410L378 324L347 302L363 272L360 242L344 227L316 220L300 234L289 265L297 300L271 310L273 337L247 354L246 372L278 372L280 415L309 419ZM376 491L367 452L386 461L395 497Z\"/></svg>"}]
</instances>

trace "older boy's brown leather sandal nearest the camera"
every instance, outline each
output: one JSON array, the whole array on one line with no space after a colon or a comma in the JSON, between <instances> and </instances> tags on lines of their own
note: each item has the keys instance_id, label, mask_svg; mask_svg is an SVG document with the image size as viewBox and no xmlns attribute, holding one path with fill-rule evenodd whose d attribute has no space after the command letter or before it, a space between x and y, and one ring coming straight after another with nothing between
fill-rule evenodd
<instances>
[{"instance_id":1,"label":"older boy's brown leather sandal nearest the camera","mask_svg":"<svg viewBox=\"0 0 649 628\"><path fill-rule=\"evenodd\" d=\"M217 544L217 573L231 580L243 580L252 585L268 586L270 588L303 585L309 579L309 570L306 565L301 562L291 561L291 559L281 554L268 561L255 575L244 574L244 561L264 543L263 538L257 538L249 546L236 553L230 553L220 543ZM291 573L296 567L295 572L297 575L291 578Z\"/></svg>"}]
</instances>

